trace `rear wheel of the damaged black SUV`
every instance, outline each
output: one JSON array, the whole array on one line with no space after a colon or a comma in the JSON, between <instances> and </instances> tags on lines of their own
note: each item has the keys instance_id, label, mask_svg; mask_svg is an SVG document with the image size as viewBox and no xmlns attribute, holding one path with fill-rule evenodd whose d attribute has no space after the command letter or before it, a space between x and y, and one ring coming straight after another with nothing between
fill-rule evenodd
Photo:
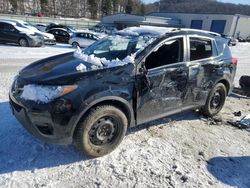
<instances>
[{"instance_id":1,"label":"rear wheel of the damaged black SUV","mask_svg":"<svg viewBox=\"0 0 250 188\"><path fill-rule=\"evenodd\" d=\"M212 117L218 114L223 108L227 96L227 89L224 84L218 83L210 91L202 113Z\"/></svg>"}]
</instances>

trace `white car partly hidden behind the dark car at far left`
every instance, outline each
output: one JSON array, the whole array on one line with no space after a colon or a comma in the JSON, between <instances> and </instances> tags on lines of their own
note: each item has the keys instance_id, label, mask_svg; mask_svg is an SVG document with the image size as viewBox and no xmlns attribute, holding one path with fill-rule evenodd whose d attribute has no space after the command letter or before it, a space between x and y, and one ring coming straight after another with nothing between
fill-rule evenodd
<instances>
[{"instance_id":1,"label":"white car partly hidden behind the dark car at far left","mask_svg":"<svg viewBox=\"0 0 250 188\"><path fill-rule=\"evenodd\" d=\"M21 21L21 20L14 20L14 21L16 23L20 24L22 27L25 27L25 28L27 28L35 33L41 34L44 38L45 44L52 44L52 45L56 44L56 39L55 39L54 35L52 35L50 33L42 32L28 22Z\"/></svg>"}]
</instances>

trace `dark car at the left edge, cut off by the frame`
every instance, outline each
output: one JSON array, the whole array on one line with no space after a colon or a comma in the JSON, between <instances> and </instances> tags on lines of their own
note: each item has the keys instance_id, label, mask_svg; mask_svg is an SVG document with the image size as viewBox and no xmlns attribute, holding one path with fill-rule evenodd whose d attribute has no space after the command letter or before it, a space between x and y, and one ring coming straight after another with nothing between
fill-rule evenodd
<instances>
[{"instance_id":1,"label":"dark car at the left edge, cut off by the frame","mask_svg":"<svg viewBox=\"0 0 250 188\"><path fill-rule=\"evenodd\" d=\"M42 35L28 30L21 24L12 21L0 20L0 42L16 43L20 46L37 46L44 44Z\"/></svg>"}]
</instances>

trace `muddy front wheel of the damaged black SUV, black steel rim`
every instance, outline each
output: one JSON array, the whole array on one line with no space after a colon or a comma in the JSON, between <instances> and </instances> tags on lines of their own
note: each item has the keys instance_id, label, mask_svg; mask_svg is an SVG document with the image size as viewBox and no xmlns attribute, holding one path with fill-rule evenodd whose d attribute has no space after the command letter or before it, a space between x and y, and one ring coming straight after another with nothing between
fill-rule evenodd
<instances>
[{"instance_id":1,"label":"muddy front wheel of the damaged black SUV, black steel rim","mask_svg":"<svg viewBox=\"0 0 250 188\"><path fill-rule=\"evenodd\" d=\"M112 152L127 132L128 120L118 108L103 105L93 108L77 126L74 141L90 157Z\"/></svg>"}]
</instances>

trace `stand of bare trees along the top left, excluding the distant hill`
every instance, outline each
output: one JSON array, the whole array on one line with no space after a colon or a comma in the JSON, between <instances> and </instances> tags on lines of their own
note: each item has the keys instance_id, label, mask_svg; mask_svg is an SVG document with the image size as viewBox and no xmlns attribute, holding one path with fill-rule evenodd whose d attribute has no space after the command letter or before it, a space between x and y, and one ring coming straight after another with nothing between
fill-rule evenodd
<instances>
[{"instance_id":1,"label":"stand of bare trees along the top left, excluding the distant hill","mask_svg":"<svg viewBox=\"0 0 250 188\"><path fill-rule=\"evenodd\" d=\"M101 18L119 12L145 14L141 0L0 0L0 13Z\"/></svg>"}]
</instances>

